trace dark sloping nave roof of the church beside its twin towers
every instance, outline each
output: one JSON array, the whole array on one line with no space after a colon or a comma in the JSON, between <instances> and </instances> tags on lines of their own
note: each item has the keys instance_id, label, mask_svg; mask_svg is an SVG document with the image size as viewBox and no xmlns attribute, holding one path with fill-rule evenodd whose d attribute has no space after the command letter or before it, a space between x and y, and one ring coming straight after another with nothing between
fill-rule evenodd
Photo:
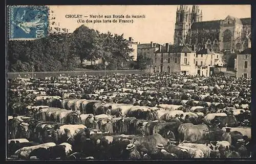
<instances>
[{"instance_id":1,"label":"dark sloping nave roof of the church beside its twin towers","mask_svg":"<svg viewBox=\"0 0 256 164\"><path fill-rule=\"evenodd\" d=\"M220 28L220 22L221 20L193 22L191 29L218 29Z\"/></svg>"}]
</instances>

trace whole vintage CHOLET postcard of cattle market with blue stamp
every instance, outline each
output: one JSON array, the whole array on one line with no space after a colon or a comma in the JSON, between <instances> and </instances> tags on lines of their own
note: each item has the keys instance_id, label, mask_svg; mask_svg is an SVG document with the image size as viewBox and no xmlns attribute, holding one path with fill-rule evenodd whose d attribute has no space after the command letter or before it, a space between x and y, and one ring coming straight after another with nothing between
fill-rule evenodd
<instances>
[{"instance_id":1,"label":"whole vintage CHOLET postcard of cattle market with blue stamp","mask_svg":"<svg viewBox=\"0 0 256 164\"><path fill-rule=\"evenodd\" d=\"M7 160L255 156L250 5L7 13Z\"/></svg>"}]
</instances>

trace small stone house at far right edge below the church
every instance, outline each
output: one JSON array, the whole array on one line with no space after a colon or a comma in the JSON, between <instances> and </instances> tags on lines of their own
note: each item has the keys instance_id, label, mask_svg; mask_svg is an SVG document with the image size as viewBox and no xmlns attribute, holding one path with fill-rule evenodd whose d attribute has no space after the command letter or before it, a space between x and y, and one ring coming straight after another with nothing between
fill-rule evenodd
<instances>
[{"instance_id":1,"label":"small stone house at far right edge below the church","mask_svg":"<svg viewBox=\"0 0 256 164\"><path fill-rule=\"evenodd\" d=\"M236 77L251 78L251 48L237 54L234 68Z\"/></svg>"}]
</instances>

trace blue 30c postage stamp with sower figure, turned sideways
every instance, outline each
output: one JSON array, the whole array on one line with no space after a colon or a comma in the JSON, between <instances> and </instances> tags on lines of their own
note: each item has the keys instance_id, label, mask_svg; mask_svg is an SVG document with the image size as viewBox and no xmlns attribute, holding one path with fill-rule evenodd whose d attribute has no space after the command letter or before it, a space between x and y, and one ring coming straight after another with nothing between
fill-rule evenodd
<instances>
[{"instance_id":1,"label":"blue 30c postage stamp with sower figure, turned sideways","mask_svg":"<svg viewBox=\"0 0 256 164\"><path fill-rule=\"evenodd\" d=\"M9 39L37 39L48 35L47 6L8 6Z\"/></svg>"}]
</instances>

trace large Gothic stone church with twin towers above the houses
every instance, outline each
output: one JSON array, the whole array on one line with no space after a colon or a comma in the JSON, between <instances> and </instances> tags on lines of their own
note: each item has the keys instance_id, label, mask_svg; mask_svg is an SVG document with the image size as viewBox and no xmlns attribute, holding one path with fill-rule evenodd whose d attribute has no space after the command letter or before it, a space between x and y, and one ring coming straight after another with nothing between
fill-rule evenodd
<instances>
[{"instance_id":1,"label":"large Gothic stone church with twin towers above the houses","mask_svg":"<svg viewBox=\"0 0 256 164\"><path fill-rule=\"evenodd\" d=\"M206 46L214 52L250 47L251 18L228 15L224 20L202 21L202 17L198 5L193 5L191 11L186 5L177 8L174 44L195 51Z\"/></svg>"}]
</instances>

